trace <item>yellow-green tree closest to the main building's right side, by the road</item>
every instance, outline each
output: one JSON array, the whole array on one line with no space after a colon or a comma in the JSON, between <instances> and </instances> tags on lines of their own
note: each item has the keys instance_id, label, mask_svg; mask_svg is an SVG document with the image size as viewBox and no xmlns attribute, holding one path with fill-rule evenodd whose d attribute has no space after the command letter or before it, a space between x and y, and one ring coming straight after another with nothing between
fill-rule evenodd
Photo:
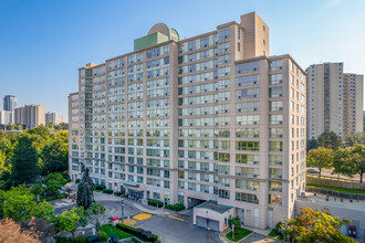
<instances>
[{"instance_id":1,"label":"yellow-green tree closest to the main building's right side, by the road","mask_svg":"<svg viewBox=\"0 0 365 243\"><path fill-rule=\"evenodd\" d=\"M306 156L306 166L317 167L320 170L320 178L322 169L331 169L333 163L333 151L331 148L320 147L312 149Z\"/></svg>"}]
</instances>

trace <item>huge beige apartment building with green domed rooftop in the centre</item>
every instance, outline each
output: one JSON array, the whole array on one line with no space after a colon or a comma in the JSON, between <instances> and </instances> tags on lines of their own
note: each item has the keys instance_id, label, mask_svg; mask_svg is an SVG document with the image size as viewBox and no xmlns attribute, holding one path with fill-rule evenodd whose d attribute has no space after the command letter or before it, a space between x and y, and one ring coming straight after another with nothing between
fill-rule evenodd
<instances>
[{"instance_id":1,"label":"huge beige apartment building with green domed rooftop in the centre","mask_svg":"<svg viewBox=\"0 0 365 243\"><path fill-rule=\"evenodd\" d=\"M290 55L269 57L260 17L186 40L158 23L134 44L79 70L71 178L83 162L94 183L142 201L212 200L261 229L292 216L305 187L306 80ZM220 230L227 215L194 222Z\"/></svg>"}]
</instances>

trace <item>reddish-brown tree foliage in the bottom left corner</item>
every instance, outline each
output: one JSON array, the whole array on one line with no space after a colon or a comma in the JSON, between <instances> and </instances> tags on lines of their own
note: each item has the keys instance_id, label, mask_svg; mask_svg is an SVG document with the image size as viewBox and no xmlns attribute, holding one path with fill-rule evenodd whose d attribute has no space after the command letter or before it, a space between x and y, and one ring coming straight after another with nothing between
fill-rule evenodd
<instances>
[{"instance_id":1,"label":"reddish-brown tree foliage in the bottom left corner","mask_svg":"<svg viewBox=\"0 0 365 243\"><path fill-rule=\"evenodd\" d=\"M0 242L36 243L38 235L32 231L22 231L20 224L9 219L0 220Z\"/></svg>"}]
</instances>

